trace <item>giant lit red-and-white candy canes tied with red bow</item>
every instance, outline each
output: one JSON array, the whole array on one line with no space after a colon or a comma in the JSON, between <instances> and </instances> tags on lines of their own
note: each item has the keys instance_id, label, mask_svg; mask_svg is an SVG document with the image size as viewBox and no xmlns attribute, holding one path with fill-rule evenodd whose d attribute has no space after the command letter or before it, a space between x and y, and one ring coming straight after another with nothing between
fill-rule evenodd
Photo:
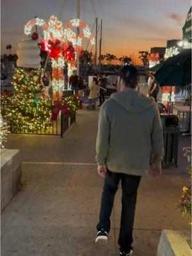
<instances>
[{"instance_id":1,"label":"giant lit red-and-white candy canes tied with red bow","mask_svg":"<svg viewBox=\"0 0 192 256\"><path fill-rule=\"evenodd\" d=\"M64 87L64 63L65 61L74 61L76 59L76 52L81 54L82 42L84 38L90 40L92 45L95 44L95 38L93 37L88 24L79 19L70 20L67 22L65 28L60 20L51 16L48 24L42 19L33 19L24 27L24 33L31 35L31 29L33 26L41 26L43 30L42 51L46 51L51 57L52 62L52 90L53 99L61 99ZM76 33L72 31L72 28L81 28L83 33L77 37ZM56 97L57 95L57 97Z\"/></svg>"}]
</instances>

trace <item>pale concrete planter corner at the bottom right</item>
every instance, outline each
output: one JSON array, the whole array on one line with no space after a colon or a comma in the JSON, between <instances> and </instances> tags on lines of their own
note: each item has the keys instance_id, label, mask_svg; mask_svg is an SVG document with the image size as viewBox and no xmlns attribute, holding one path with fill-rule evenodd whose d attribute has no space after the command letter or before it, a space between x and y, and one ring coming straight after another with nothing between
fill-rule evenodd
<instances>
[{"instance_id":1,"label":"pale concrete planter corner at the bottom right","mask_svg":"<svg viewBox=\"0 0 192 256\"><path fill-rule=\"evenodd\" d=\"M190 240L190 232L163 230L157 249L157 256L191 256Z\"/></svg>"}]
</instances>

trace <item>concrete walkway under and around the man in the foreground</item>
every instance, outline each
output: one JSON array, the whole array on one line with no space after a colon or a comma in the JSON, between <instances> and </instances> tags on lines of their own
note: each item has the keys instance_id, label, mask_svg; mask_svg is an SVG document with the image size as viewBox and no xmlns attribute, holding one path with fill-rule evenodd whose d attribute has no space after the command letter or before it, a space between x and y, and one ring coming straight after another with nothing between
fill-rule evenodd
<instances>
[{"instance_id":1,"label":"concrete walkway under and around the man in the foreground","mask_svg":"<svg viewBox=\"0 0 192 256\"><path fill-rule=\"evenodd\" d=\"M1 216L2 256L117 256L119 190L106 246L94 243L103 180L95 165L98 111L79 111L63 138L10 134L6 148L22 153L22 189ZM143 177L134 223L134 256L155 256L162 229L189 230L175 209L188 183L180 138L179 168Z\"/></svg>"}]
</instances>

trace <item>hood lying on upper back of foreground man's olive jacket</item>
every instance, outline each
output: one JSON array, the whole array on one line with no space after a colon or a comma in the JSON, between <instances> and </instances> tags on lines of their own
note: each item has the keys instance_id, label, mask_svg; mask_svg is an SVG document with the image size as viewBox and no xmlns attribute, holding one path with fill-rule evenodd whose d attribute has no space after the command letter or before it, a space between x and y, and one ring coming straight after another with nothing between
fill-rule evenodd
<instances>
[{"instance_id":1,"label":"hood lying on upper back of foreground man's olive jacket","mask_svg":"<svg viewBox=\"0 0 192 256\"><path fill-rule=\"evenodd\" d=\"M125 108L128 112L139 113L150 108L155 100L150 97L141 95L140 93L130 90L129 92L116 92L111 95L118 104Z\"/></svg>"}]
</instances>

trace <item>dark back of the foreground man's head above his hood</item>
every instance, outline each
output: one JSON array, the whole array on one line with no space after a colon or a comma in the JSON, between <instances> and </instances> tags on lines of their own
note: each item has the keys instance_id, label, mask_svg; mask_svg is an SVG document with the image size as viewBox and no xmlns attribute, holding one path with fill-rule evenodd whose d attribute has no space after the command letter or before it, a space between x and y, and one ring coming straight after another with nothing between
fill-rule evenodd
<instances>
[{"instance_id":1,"label":"dark back of the foreground man's head above his hood","mask_svg":"<svg viewBox=\"0 0 192 256\"><path fill-rule=\"evenodd\" d=\"M125 86L134 89L138 85L138 77L140 74L134 66L124 66L120 69L118 75L124 80Z\"/></svg>"}]
</instances>

